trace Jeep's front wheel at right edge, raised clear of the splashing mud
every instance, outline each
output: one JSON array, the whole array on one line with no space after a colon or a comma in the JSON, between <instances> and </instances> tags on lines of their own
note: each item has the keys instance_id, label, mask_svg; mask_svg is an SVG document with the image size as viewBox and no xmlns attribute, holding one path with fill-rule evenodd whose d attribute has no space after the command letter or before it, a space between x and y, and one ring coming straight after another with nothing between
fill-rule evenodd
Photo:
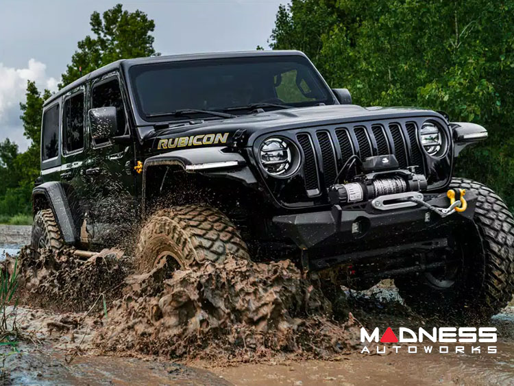
<instances>
[{"instance_id":1,"label":"Jeep's front wheel at right edge, raised clear of the splashing mud","mask_svg":"<svg viewBox=\"0 0 514 386\"><path fill-rule=\"evenodd\" d=\"M424 316L484 322L511 300L514 290L514 218L487 186L454 178L450 188L478 196L474 227L457 228L450 257L456 263L417 278L397 278L408 306Z\"/></svg>"}]
</instances>

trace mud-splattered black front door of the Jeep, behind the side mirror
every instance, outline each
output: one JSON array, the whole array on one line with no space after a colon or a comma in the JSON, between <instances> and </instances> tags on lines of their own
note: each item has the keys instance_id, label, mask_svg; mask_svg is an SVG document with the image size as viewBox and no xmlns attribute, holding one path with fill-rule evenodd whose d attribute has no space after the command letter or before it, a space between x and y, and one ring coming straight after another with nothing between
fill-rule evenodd
<instances>
[{"instance_id":1,"label":"mud-splattered black front door of the Jeep, behind the side mirror","mask_svg":"<svg viewBox=\"0 0 514 386\"><path fill-rule=\"evenodd\" d=\"M123 84L119 73L110 73L90 82L88 109L115 107L116 136L130 135ZM123 241L137 219L135 144L112 143L110 138L96 140L90 135L88 121L88 165L84 169L90 181L87 189L88 211L84 228L92 243L113 245Z\"/></svg>"}]
</instances>

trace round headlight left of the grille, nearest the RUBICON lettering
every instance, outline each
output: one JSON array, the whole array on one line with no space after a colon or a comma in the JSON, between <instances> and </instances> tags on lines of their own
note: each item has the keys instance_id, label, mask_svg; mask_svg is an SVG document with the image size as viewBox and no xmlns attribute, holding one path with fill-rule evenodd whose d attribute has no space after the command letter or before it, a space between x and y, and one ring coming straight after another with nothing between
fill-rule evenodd
<instances>
[{"instance_id":1,"label":"round headlight left of the grille, nearest the RUBICON lettering","mask_svg":"<svg viewBox=\"0 0 514 386\"><path fill-rule=\"evenodd\" d=\"M267 138L259 150L260 165L274 177L289 177L298 170L299 152L286 138Z\"/></svg>"}]
</instances>

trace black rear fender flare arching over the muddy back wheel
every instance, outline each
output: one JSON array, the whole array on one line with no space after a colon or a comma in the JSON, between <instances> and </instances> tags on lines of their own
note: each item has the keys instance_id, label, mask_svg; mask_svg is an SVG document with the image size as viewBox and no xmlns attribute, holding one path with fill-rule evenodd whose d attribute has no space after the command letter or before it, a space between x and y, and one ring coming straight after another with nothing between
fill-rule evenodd
<instances>
[{"instance_id":1,"label":"black rear fender flare arching over the muddy back wheel","mask_svg":"<svg viewBox=\"0 0 514 386\"><path fill-rule=\"evenodd\" d=\"M45 182L32 190L32 211L36 210L34 203L38 196L44 196L49 203L53 214L56 215L57 223L61 231L64 243L73 245L77 241L77 229L73 222L73 215L69 206L68 198L60 182ZM34 213L35 215L36 213Z\"/></svg>"}]
</instances>

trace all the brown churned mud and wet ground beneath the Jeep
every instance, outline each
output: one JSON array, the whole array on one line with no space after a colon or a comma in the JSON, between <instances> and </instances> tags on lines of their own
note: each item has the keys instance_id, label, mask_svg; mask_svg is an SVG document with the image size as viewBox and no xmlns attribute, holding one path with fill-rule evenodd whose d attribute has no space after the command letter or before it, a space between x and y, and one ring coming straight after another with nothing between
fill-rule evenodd
<instances>
[{"instance_id":1,"label":"all the brown churned mud and wet ground beneath the Jeep","mask_svg":"<svg viewBox=\"0 0 514 386\"><path fill-rule=\"evenodd\" d=\"M14 258L2 264L12 272ZM363 355L360 323L442 324L404 306L391 280L328 302L289 261L137 274L119 250L80 259L25 248L17 264L20 302L36 308L16 315L33 341L6 359L13 384L514 385L512 305L489 324L496 354Z\"/></svg>"}]
</instances>

